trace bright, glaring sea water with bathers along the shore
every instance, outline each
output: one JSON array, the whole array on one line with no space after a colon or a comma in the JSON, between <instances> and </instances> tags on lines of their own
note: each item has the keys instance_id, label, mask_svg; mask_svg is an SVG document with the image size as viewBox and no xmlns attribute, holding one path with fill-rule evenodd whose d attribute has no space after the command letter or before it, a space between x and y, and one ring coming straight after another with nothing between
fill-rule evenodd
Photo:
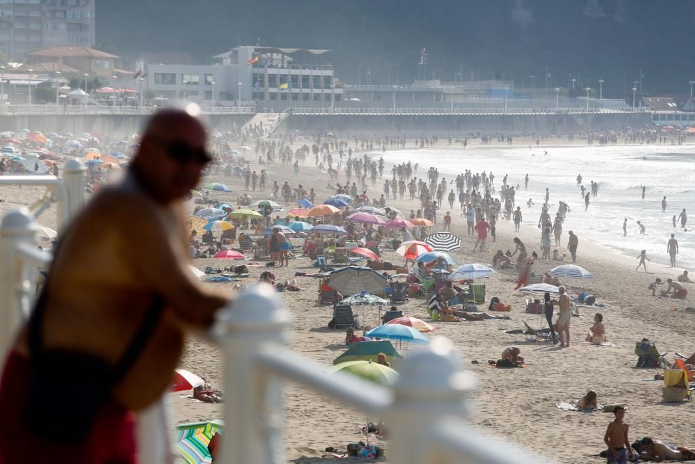
<instances>
[{"instance_id":1,"label":"bright, glaring sea water with bathers along the shore","mask_svg":"<svg viewBox=\"0 0 695 464\"><path fill-rule=\"evenodd\" d=\"M543 154L546 151L548 154ZM466 149L460 145L450 148L445 145L435 149L387 151L374 158L379 156L387 163L408 160L418 163L418 177L426 177L427 169L434 166L439 169L440 179L445 177L447 182L465 169L473 174L494 173L496 189L507 174L508 184L521 185L521 191L516 193L516 205L521 206L523 224L527 228L537 226L545 189L550 189L551 217L555 217L560 200L571 208L562 227L562 248L566 248L567 231L573 230L580 241L588 239L632 257L637 257L639 250L647 250L647 257L653 262L668 264L667 241L675 233L680 247L678 267L689 268L695 262L695 146L541 145L529 150L528 145ZM526 173L529 175L528 191L524 191L523 186ZM598 196L591 197L586 212L576 182L578 174L582 175L587 190L592 180L599 184ZM644 200L641 185L646 186ZM455 185L452 188L455 189ZM668 207L662 212L664 196ZM531 209L526 206L529 198L536 204ZM680 222L674 228L671 220L683 208L692 221L686 225L687 231L680 228ZM624 218L628 218L627 237L623 237ZM646 235L639 234L637 221L645 225ZM538 236L540 240L540 230Z\"/></svg>"}]
</instances>

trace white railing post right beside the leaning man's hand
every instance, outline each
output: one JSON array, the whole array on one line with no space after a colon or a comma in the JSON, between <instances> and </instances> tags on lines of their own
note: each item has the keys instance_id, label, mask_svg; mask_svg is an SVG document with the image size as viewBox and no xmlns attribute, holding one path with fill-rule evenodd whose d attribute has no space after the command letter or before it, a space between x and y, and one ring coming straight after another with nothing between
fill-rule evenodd
<instances>
[{"instance_id":1,"label":"white railing post right beside the leaning man's hand","mask_svg":"<svg viewBox=\"0 0 695 464\"><path fill-rule=\"evenodd\" d=\"M221 312L214 334L220 338L224 371L224 428L221 463L284 462L282 387L256 364L256 353L284 350L288 313L273 287L254 285Z\"/></svg>"}]
</instances>

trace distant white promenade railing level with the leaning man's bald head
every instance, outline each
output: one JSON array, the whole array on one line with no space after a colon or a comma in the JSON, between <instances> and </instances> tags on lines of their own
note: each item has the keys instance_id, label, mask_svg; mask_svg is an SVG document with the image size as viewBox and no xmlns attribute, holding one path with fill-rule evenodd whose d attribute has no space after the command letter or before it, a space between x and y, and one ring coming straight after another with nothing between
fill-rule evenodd
<instances>
[{"instance_id":1,"label":"distant white promenade railing level with the leaning man's bald head","mask_svg":"<svg viewBox=\"0 0 695 464\"><path fill-rule=\"evenodd\" d=\"M157 106L111 106L111 105L15 105L0 106L0 115L149 115ZM248 114L256 113L254 104L243 106L202 106L204 114Z\"/></svg>"}]
</instances>

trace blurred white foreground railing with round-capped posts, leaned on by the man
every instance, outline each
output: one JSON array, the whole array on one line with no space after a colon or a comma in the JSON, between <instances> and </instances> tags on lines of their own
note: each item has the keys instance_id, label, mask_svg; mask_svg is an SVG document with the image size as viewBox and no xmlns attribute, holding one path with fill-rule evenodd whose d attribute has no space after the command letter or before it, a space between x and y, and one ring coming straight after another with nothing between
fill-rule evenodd
<instances>
[{"instance_id":1,"label":"blurred white foreground railing with round-capped posts, leaned on by the man","mask_svg":"<svg viewBox=\"0 0 695 464\"><path fill-rule=\"evenodd\" d=\"M73 162L74 161L74 162ZM81 163L66 164L77 177ZM50 176L46 176L51 179ZM54 178L53 178L54 179ZM33 176L14 177L15 183L34 183ZM83 178L82 181L83 182ZM53 185L53 184L50 184ZM82 205L76 179L65 179L56 200L67 202L72 217ZM83 192L83 184L82 190ZM61 196L62 195L62 196ZM63 226L65 224L63 223ZM0 355L28 315L35 293L35 276L51 256L36 247L37 227L26 208L8 212L0 224ZM434 339L412 352L400 368L392 389L358 378L334 374L313 360L288 352L289 312L275 289L252 286L220 311L211 339L224 351L224 420L220 463L284 463L284 381L292 381L340 401L389 427L389 461L399 464L542 464L541 458L508 442L474 431L468 424L473 377L459 368L450 343ZM166 395L138 413L140 462L172 464L174 429L167 419Z\"/></svg>"}]
</instances>

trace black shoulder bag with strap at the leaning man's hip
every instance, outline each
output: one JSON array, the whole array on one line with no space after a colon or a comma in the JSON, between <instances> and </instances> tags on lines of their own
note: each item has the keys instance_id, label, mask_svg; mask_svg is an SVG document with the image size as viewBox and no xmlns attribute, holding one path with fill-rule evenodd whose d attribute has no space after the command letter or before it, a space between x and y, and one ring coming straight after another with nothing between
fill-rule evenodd
<instances>
[{"instance_id":1,"label":"black shoulder bag with strap at the leaning man's hip","mask_svg":"<svg viewBox=\"0 0 695 464\"><path fill-rule=\"evenodd\" d=\"M26 425L38 435L79 445L92 429L101 407L115 385L133 367L164 310L156 296L120 360L111 365L97 355L74 349L42 346L48 280L36 302L28 325L31 380L26 405Z\"/></svg>"}]
</instances>

